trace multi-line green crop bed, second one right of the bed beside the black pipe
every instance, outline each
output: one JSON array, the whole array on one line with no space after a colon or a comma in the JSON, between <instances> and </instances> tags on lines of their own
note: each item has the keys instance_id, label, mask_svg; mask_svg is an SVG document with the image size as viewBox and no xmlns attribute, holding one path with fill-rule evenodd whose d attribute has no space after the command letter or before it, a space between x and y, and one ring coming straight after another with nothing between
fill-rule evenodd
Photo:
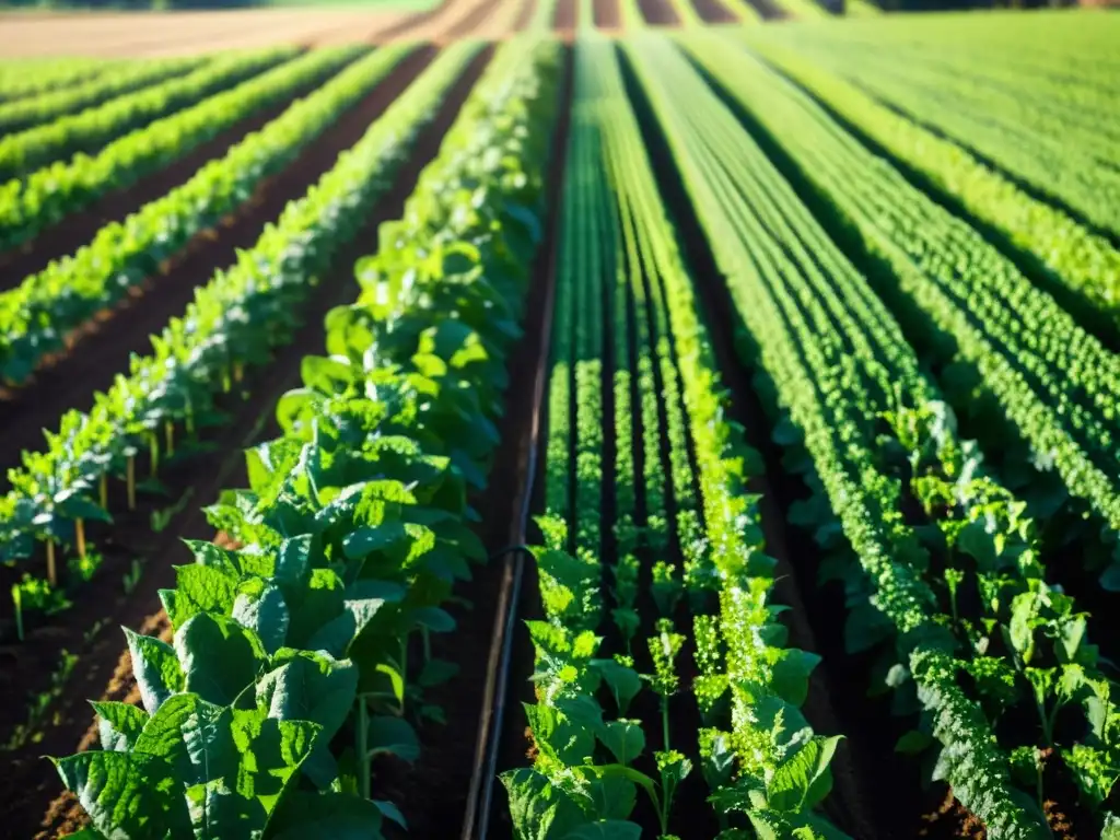
<instances>
[{"instance_id":1,"label":"multi-line green crop bed, second one right of the bed beside the black pipe","mask_svg":"<svg viewBox=\"0 0 1120 840\"><path fill-rule=\"evenodd\" d=\"M871 274L876 291L898 317L921 325L915 340L926 336L923 349L943 363L946 399L991 436L981 444L1032 514L1068 513L1061 519L1067 532L1055 539L1088 536L1092 550L1083 562L1103 569L1102 585L1118 588L1112 407L1120 358L810 96L734 44L689 38L696 59L781 144L821 212L842 217L837 227L880 261ZM1009 446L1016 438L1025 442ZM1067 504L1071 497L1079 504ZM1086 520L1079 506L1095 515Z\"/></svg>"}]
</instances>

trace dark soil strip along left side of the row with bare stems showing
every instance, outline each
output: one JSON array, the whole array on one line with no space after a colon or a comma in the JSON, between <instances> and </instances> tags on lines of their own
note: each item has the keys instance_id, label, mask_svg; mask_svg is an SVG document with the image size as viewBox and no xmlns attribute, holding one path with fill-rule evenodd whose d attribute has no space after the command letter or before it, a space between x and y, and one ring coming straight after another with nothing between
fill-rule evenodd
<instances>
[{"instance_id":1,"label":"dark soil strip along left side of the row with bare stems showing","mask_svg":"<svg viewBox=\"0 0 1120 840\"><path fill-rule=\"evenodd\" d=\"M242 211L222 225L193 240L184 254L149 278L137 297L127 297L106 317L96 319L76 336L69 353L40 370L27 386L0 399L0 469L19 464L25 449L43 446L41 430L55 429L67 409L87 410L94 393L108 389L128 368L132 353L150 351L149 336L180 315L194 298L195 287L218 269L235 262L237 250L251 248L268 222L279 217L287 203L304 195L334 166L339 152L353 146L430 60L431 50L407 56L357 105L344 113L302 156L263 184ZM2 582L0 572L0 582Z\"/></svg>"}]
</instances>

